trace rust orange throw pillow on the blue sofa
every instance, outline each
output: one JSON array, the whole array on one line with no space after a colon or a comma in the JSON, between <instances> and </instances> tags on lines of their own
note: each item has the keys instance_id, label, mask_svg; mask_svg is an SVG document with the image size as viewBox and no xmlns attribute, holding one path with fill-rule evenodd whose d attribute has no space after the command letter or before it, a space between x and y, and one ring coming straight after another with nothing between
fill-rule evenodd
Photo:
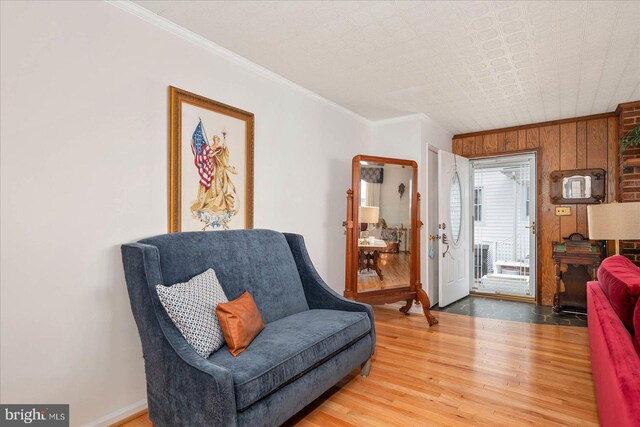
<instances>
[{"instance_id":1,"label":"rust orange throw pillow on the blue sofa","mask_svg":"<svg viewBox=\"0 0 640 427\"><path fill-rule=\"evenodd\" d=\"M231 302L218 304L216 314L229 352L237 356L264 329L262 316L249 292Z\"/></svg>"}]
</instances>

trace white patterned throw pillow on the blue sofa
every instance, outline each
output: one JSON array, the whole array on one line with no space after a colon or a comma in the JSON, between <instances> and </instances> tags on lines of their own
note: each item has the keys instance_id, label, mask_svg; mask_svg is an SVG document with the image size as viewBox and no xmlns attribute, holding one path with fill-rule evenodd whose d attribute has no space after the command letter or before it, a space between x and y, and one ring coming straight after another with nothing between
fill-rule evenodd
<instances>
[{"instance_id":1,"label":"white patterned throw pillow on the blue sofa","mask_svg":"<svg viewBox=\"0 0 640 427\"><path fill-rule=\"evenodd\" d=\"M200 356L207 358L224 344L216 307L229 302L213 269L186 283L156 285L160 302L182 336Z\"/></svg>"}]
</instances>

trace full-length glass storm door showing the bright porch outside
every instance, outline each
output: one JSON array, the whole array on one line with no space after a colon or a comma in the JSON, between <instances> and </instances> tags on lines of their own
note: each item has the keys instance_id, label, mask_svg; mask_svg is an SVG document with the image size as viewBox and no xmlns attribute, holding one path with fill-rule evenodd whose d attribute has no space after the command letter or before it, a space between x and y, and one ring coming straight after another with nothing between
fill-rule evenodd
<instances>
[{"instance_id":1,"label":"full-length glass storm door showing the bright porch outside","mask_svg":"<svg viewBox=\"0 0 640 427\"><path fill-rule=\"evenodd\" d=\"M471 161L474 293L535 300L535 162L534 154Z\"/></svg>"}]
</instances>

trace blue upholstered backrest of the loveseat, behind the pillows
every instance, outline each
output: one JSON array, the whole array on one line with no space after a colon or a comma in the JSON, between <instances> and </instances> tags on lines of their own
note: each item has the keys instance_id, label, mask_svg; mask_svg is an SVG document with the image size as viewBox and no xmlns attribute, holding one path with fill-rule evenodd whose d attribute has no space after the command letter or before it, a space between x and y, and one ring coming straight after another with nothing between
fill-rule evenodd
<instances>
[{"instance_id":1,"label":"blue upholstered backrest of the loveseat, behind the pillows","mask_svg":"<svg viewBox=\"0 0 640 427\"><path fill-rule=\"evenodd\" d=\"M141 240L160 254L163 284L186 282L208 268L230 300L249 291L265 323L309 309L282 233L229 230L172 233Z\"/></svg>"}]
</instances>

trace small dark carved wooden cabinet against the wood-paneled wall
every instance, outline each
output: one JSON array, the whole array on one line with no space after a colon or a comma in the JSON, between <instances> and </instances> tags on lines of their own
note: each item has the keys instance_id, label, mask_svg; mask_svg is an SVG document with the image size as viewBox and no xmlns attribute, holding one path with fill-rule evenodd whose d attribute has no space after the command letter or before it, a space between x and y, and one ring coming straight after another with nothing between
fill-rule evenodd
<instances>
[{"instance_id":1,"label":"small dark carved wooden cabinet against the wood-paneled wall","mask_svg":"<svg viewBox=\"0 0 640 427\"><path fill-rule=\"evenodd\" d=\"M554 312L587 312L587 282L597 280L596 273L604 253L603 242L589 241L579 233L573 233L563 242L553 242Z\"/></svg>"}]
</instances>

